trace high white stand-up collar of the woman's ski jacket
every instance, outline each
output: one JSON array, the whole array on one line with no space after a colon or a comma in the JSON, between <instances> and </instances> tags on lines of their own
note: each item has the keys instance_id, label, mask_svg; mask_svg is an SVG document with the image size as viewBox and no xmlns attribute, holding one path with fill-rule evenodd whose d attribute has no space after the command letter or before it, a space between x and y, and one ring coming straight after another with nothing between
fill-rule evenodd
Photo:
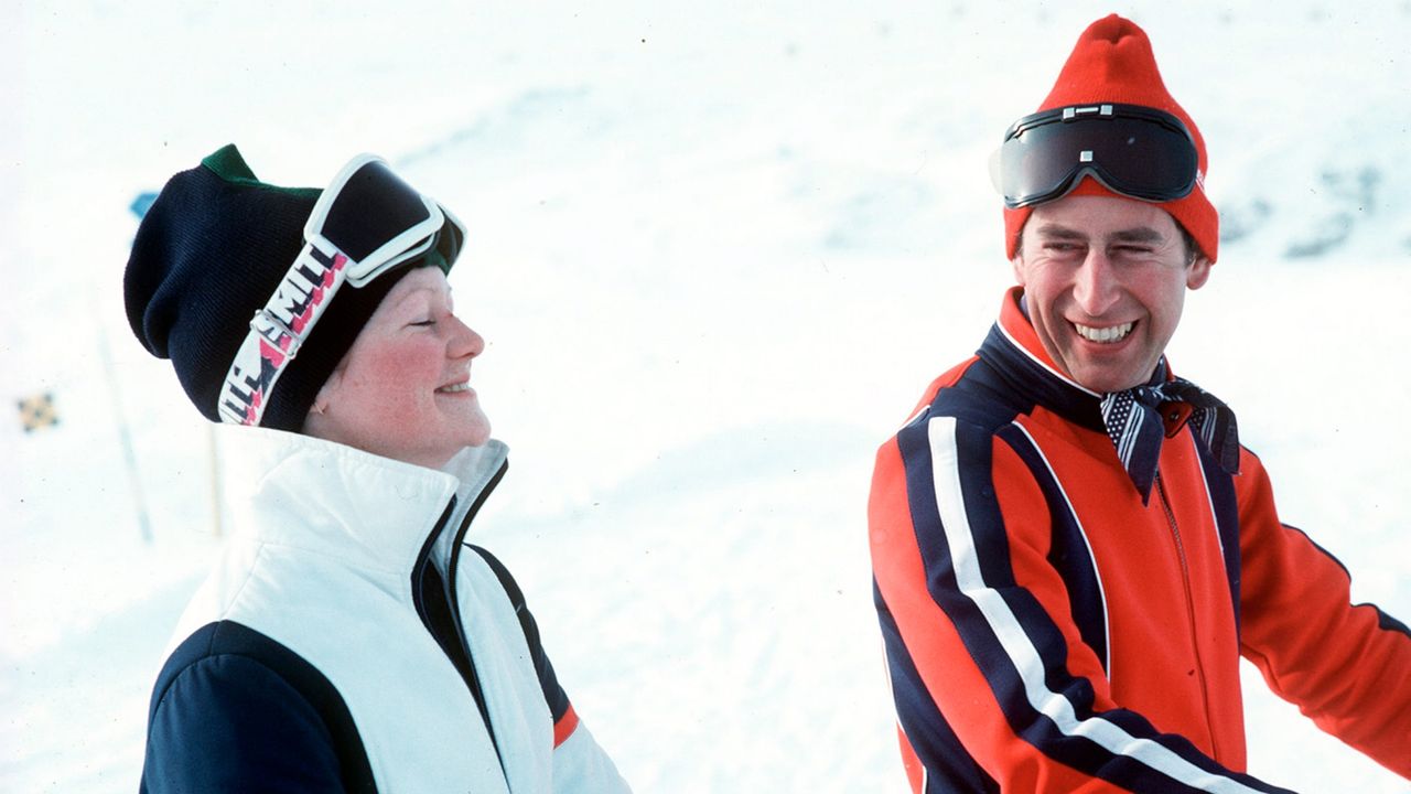
<instances>
[{"instance_id":1,"label":"high white stand-up collar of the woman's ski jacket","mask_svg":"<svg viewBox=\"0 0 1411 794\"><path fill-rule=\"evenodd\" d=\"M428 547L449 558L508 459L508 448L490 441L436 470L295 432L233 425L217 432L237 531L398 575Z\"/></svg>"}]
</instances>

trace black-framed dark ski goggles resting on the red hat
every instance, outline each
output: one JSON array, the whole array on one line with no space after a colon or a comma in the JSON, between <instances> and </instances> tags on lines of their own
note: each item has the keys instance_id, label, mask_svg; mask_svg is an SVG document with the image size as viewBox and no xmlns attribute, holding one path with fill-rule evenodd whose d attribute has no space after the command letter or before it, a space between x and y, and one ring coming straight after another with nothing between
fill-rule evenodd
<instances>
[{"instance_id":1,"label":"black-framed dark ski goggles resting on the red hat","mask_svg":"<svg viewBox=\"0 0 1411 794\"><path fill-rule=\"evenodd\" d=\"M991 158L1010 209L1062 198L1084 177L1134 199L1185 198L1199 181L1195 138L1154 107L1077 105L1015 122Z\"/></svg>"}]
</instances>

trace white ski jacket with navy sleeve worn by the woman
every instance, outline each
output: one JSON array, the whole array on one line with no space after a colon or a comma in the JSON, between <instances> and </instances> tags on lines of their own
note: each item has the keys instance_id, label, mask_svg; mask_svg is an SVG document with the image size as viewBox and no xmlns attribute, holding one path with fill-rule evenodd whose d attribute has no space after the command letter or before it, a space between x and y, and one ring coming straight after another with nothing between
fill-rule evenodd
<instances>
[{"instance_id":1,"label":"white ski jacket with navy sleeve worn by the woman","mask_svg":"<svg viewBox=\"0 0 1411 794\"><path fill-rule=\"evenodd\" d=\"M158 675L144 791L628 791L463 543L502 444L446 473L222 431L234 530Z\"/></svg>"}]
</instances>

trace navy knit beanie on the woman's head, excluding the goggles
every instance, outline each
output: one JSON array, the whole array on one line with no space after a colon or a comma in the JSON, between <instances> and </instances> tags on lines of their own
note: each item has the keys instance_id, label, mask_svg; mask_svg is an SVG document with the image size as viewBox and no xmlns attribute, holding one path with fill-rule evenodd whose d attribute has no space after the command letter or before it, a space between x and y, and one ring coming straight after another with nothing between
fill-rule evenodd
<instances>
[{"instance_id":1,"label":"navy knit beanie on the woman's head, excluding the goggles","mask_svg":"<svg viewBox=\"0 0 1411 794\"><path fill-rule=\"evenodd\" d=\"M222 421L219 400L237 350L303 249L322 194L258 181L236 147L172 177L143 218L123 278L127 319L154 356L171 359L186 396ZM449 271L459 240L433 247L360 288L330 298L277 387L261 427L299 431L309 405L387 292L411 267Z\"/></svg>"}]
</instances>

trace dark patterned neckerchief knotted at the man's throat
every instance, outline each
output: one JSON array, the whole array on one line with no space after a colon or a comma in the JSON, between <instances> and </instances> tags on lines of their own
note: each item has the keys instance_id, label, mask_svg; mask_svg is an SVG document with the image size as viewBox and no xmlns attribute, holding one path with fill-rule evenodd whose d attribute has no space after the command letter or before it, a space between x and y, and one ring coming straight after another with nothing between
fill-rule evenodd
<instances>
[{"instance_id":1,"label":"dark patterned neckerchief knotted at the man's throat","mask_svg":"<svg viewBox=\"0 0 1411 794\"><path fill-rule=\"evenodd\" d=\"M1102 421L1118 448L1118 459L1132 478L1132 485L1141 493L1143 504L1151 496L1151 483L1161 458L1161 441L1165 438L1163 414L1171 414L1178 421L1184 413L1180 404L1189 408L1195 435L1215 455L1221 469L1230 475L1239 473L1235 411L1213 394L1180 377L1154 386L1109 391L1102 397Z\"/></svg>"}]
</instances>

